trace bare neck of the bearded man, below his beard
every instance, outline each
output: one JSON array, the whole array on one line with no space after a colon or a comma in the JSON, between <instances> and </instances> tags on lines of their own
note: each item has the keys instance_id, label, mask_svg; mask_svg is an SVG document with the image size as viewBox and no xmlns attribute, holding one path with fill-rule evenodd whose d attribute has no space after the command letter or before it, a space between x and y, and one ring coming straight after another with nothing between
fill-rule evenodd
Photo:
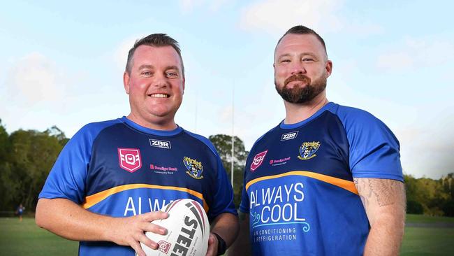
<instances>
[{"instance_id":1,"label":"bare neck of the bearded man, below his beard","mask_svg":"<svg viewBox=\"0 0 454 256\"><path fill-rule=\"evenodd\" d=\"M284 101L284 106L286 108L286 118L284 124L291 125L297 122L301 122L310 118L314 115L320 108L323 108L328 104L328 99L326 99L326 92L323 91L318 94L312 101L306 102L304 104L293 104L288 101Z\"/></svg>"}]
</instances>

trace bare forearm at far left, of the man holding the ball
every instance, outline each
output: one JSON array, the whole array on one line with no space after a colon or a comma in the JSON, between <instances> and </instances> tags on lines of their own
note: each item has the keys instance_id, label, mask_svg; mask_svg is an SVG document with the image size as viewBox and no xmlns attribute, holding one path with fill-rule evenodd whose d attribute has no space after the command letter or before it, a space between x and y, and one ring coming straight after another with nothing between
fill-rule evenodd
<instances>
[{"instance_id":1,"label":"bare forearm at far left, of the man holding the ball","mask_svg":"<svg viewBox=\"0 0 454 256\"><path fill-rule=\"evenodd\" d=\"M39 199L36 224L75 241L111 241L106 230L115 218L91 213L68 199Z\"/></svg>"}]
</instances>

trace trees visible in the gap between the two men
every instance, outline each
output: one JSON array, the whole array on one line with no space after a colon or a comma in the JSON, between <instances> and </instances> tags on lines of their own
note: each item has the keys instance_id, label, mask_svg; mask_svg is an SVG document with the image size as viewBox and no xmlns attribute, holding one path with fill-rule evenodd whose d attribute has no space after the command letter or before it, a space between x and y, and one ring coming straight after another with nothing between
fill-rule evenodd
<instances>
[{"instance_id":1,"label":"trees visible in the gap between the two men","mask_svg":"<svg viewBox=\"0 0 454 256\"><path fill-rule=\"evenodd\" d=\"M219 156L222 159L222 164L226 169L228 178L231 175L231 161L232 161L232 136L225 134L217 134L209 137L210 141L216 147ZM248 152L244 150L243 141L234 136L234 157L233 157L233 194L235 206L240 205L241 192L243 189L244 165L246 164Z\"/></svg>"}]
</instances>

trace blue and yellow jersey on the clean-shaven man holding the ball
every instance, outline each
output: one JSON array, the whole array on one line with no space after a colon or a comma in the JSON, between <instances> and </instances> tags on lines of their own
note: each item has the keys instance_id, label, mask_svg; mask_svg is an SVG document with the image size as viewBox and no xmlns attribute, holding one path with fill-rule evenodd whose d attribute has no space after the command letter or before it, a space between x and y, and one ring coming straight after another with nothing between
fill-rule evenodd
<instances>
[{"instance_id":1,"label":"blue and yellow jersey on the clean-shaven man holding the ball","mask_svg":"<svg viewBox=\"0 0 454 256\"><path fill-rule=\"evenodd\" d=\"M129 217L175 199L198 201L208 218L233 213L233 190L210 141L177 127L157 131L127 118L82 127L61 151L40 198L64 198L94 213ZM109 242L80 242L80 255L134 255Z\"/></svg>"}]
</instances>

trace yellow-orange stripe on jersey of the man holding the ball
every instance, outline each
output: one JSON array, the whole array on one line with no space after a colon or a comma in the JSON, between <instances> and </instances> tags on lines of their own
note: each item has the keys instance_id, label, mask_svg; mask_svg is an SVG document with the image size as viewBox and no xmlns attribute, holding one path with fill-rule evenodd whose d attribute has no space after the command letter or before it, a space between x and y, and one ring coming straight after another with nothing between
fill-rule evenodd
<instances>
[{"instance_id":1,"label":"yellow-orange stripe on jersey of the man holding the ball","mask_svg":"<svg viewBox=\"0 0 454 256\"><path fill-rule=\"evenodd\" d=\"M101 192L98 192L96 194L92 194L91 196L85 197L85 203L82 204L82 208L90 208L91 206L94 206L95 204L98 204L100 201L103 201L107 197L111 196L112 194L117 194L119 192L123 192L125 190L134 190L136 188L154 188L158 190L177 190L177 191L182 191L186 192L188 194L192 194L195 197L200 198L203 201L203 208L205 209L205 212L208 212L208 205L205 199L203 199L203 194L194 191L194 190L189 190L186 187L173 187L173 186L159 186L159 185L149 185L149 184L129 184L129 185L121 185L118 187L112 187L108 190L104 190Z\"/></svg>"}]
</instances>

